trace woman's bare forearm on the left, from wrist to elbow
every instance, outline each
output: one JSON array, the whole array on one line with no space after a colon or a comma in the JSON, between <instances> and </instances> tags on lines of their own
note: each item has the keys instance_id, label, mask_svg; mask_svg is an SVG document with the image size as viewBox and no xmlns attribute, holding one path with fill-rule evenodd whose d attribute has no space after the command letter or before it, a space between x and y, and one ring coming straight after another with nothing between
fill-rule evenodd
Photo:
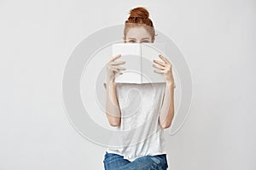
<instances>
[{"instance_id":1,"label":"woman's bare forearm on the left, from wrist to elbow","mask_svg":"<svg viewBox=\"0 0 256 170\"><path fill-rule=\"evenodd\" d=\"M112 126L119 126L121 114L114 83L115 82L113 80L107 82L106 113L108 117L108 122Z\"/></svg>"}]
</instances>

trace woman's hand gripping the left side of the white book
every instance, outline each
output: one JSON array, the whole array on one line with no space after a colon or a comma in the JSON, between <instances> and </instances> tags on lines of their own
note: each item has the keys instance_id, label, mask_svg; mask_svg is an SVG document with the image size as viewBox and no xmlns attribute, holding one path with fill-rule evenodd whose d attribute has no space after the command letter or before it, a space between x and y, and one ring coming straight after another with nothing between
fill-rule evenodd
<instances>
[{"instance_id":1,"label":"woman's hand gripping the left side of the white book","mask_svg":"<svg viewBox=\"0 0 256 170\"><path fill-rule=\"evenodd\" d=\"M114 55L112 59L107 64L107 80L113 81L114 78L119 75L123 74L121 70L125 71L126 69L124 67L121 67L119 65L125 64L125 61L115 61L115 59L118 59L121 57L121 54Z\"/></svg>"}]
</instances>

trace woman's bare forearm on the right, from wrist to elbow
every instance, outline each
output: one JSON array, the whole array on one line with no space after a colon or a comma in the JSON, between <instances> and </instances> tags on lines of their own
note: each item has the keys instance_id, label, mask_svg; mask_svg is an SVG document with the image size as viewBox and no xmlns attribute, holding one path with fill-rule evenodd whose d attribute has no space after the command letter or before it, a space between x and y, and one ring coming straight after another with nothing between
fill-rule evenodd
<instances>
[{"instance_id":1,"label":"woman's bare forearm on the right, from wrist to elbow","mask_svg":"<svg viewBox=\"0 0 256 170\"><path fill-rule=\"evenodd\" d=\"M165 96L160 110L160 125L168 128L172 124L174 116L174 82L166 82Z\"/></svg>"}]
</instances>

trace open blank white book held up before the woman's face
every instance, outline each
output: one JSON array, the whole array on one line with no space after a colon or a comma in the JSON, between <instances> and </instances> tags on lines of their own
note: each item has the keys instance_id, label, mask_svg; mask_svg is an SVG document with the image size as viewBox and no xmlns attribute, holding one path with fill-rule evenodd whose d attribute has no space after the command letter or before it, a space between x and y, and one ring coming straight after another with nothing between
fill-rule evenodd
<instances>
[{"instance_id":1,"label":"open blank white book held up before the woman's face","mask_svg":"<svg viewBox=\"0 0 256 170\"><path fill-rule=\"evenodd\" d=\"M113 55L121 54L115 61L125 61L119 65L125 67L122 75L115 77L115 82L122 83L154 83L166 82L163 74L154 72L153 59L162 61L159 54L165 56L164 43L115 43L112 45ZM155 64L157 65L157 64Z\"/></svg>"}]
</instances>

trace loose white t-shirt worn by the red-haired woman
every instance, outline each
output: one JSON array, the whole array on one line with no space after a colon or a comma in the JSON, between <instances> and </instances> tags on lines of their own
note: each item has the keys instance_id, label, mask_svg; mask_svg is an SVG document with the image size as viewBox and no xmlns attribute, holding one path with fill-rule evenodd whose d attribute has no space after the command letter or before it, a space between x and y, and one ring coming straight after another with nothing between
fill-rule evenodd
<instances>
[{"instance_id":1,"label":"loose white t-shirt worn by the red-haired woman","mask_svg":"<svg viewBox=\"0 0 256 170\"><path fill-rule=\"evenodd\" d=\"M124 156L129 161L147 155L165 154L164 129L159 114L163 103L166 82L115 83L121 111L121 123L115 127L109 141L108 153Z\"/></svg>"}]
</instances>

